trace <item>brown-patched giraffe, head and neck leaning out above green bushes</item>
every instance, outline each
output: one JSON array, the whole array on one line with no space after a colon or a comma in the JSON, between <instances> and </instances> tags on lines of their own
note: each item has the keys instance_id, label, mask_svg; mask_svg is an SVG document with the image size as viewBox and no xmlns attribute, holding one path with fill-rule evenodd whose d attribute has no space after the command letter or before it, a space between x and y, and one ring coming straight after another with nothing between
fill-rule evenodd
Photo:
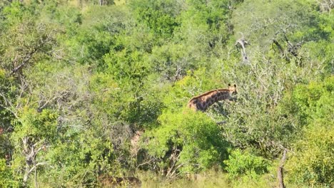
<instances>
[{"instance_id":1,"label":"brown-patched giraffe, head and neck leaning out above green bushes","mask_svg":"<svg viewBox=\"0 0 334 188\"><path fill-rule=\"evenodd\" d=\"M193 110L201 110L204 112L219 100L236 100L236 98L233 98L233 95L236 94L236 84L233 86L228 84L228 89L210 90L206 93L191 98L187 106Z\"/></svg>"}]
</instances>

